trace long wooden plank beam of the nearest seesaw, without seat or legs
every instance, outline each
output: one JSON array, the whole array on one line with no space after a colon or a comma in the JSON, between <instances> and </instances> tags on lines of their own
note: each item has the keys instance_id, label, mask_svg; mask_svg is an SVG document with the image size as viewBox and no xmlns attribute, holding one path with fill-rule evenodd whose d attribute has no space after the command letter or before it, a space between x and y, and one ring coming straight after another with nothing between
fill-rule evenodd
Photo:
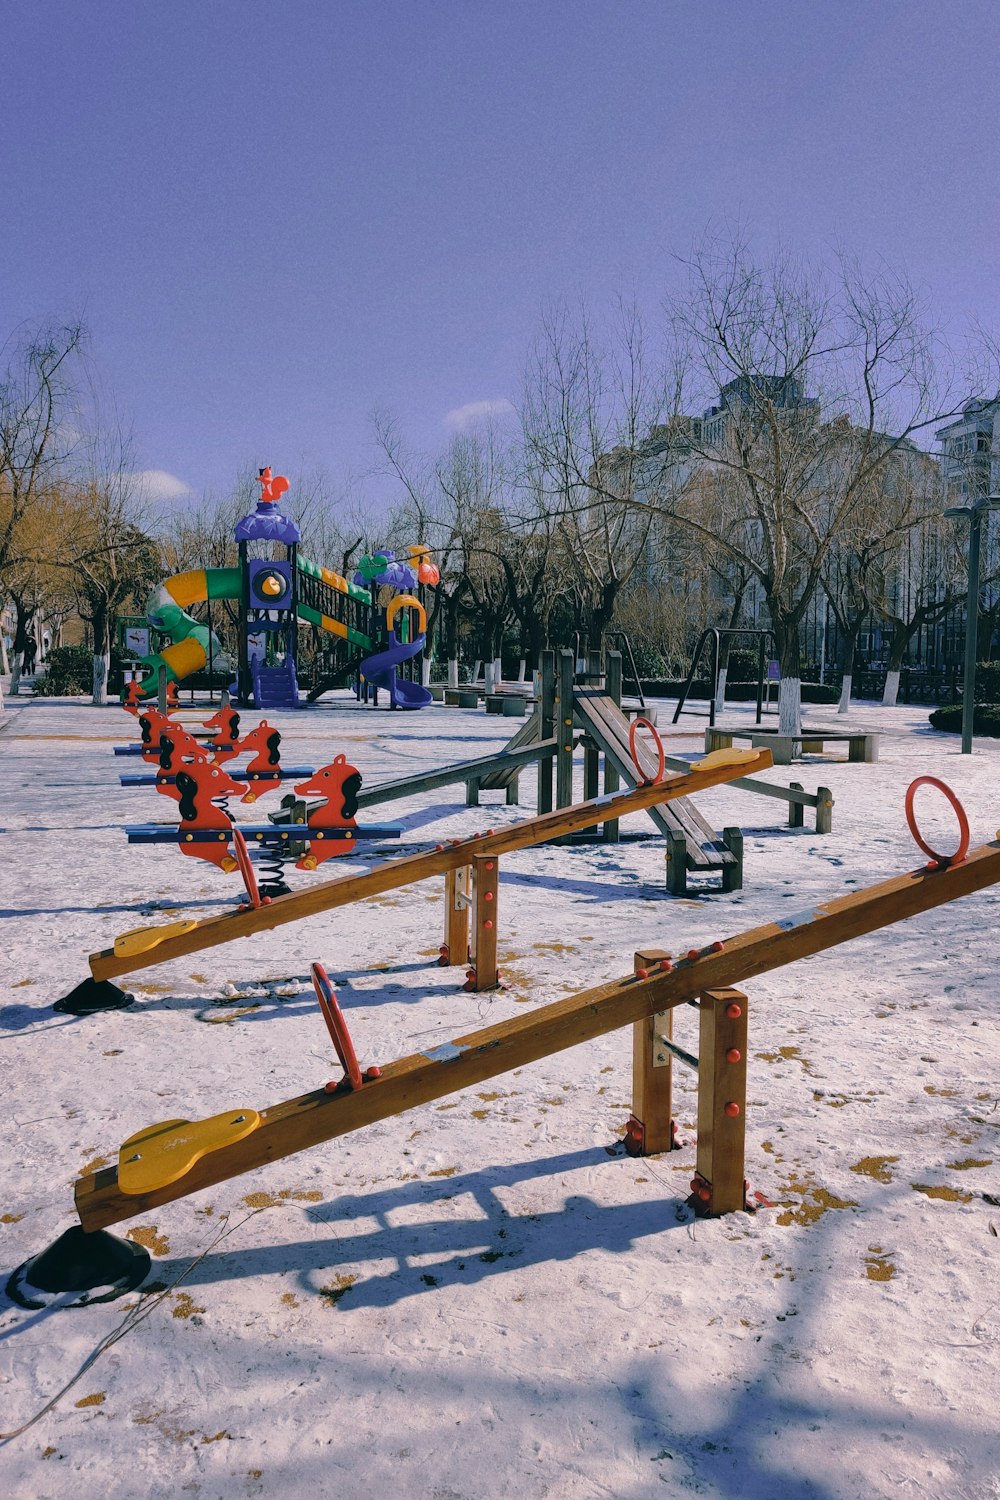
<instances>
[{"instance_id":1,"label":"long wooden plank beam of the nearest seesaw, without seat or legs","mask_svg":"<svg viewBox=\"0 0 1000 1500\"><path fill-rule=\"evenodd\" d=\"M181 1178L156 1191L124 1194L117 1168L105 1167L76 1184L79 1221L85 1230L94 1230L133 1218L309 1146L630 1026L706 990L727 988L970 896L997 880L1000 843L994 842L975 849L963 864L951 868L922 867L804 912L786 914L777 922L730 938L721 951L706 950L669 972L655 970L646 980L630 974L528 1016L457 1036L427 1053L387 1064L382 1076L364 1083L358 1092L327 1094L315 1089L276 1104L262 1112L261 1124L250 1136L210 1152Z\"/></svg>"}]
</instances>

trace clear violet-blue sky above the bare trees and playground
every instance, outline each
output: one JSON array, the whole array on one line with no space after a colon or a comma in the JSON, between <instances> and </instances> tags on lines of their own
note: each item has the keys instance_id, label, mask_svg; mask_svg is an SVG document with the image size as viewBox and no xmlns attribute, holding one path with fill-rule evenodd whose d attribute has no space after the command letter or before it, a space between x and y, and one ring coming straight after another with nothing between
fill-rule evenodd
<instances>
[{"instance_id":1,"label":"clear violet-blue sky above the bare trees and playground","mask_svg":"<svg viewBox=\"0 0 1000 1500\"><path fill-rule=\"evenodd\" d=\"M6 0L0 338L82 315L139 465L435 452L541 308L883 255L1000 326L996 0ZM372 483L372 492L379 484Z\"/></svg>"}]
</instances>

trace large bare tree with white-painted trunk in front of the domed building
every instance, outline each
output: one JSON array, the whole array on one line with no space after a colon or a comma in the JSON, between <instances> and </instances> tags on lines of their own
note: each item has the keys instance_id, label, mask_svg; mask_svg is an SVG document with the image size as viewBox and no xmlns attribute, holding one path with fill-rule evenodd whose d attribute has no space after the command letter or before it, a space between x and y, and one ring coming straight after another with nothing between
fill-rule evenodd
<instances>
[{"instance_id":1,"label":"large bare tree with white-painted trunk in front of the domed building","mask_svg":"<svg viewBox=\"0 0 1000 1500\"><path fill-rule=\"evenodd\" d=\"M913 291L846 258L826 276L747 243L708 244L670 314L673 422L694 472L727 477L723 525L697 486L661 504L756 576L781 663L780 722L801 729L799 632L828 554L892 456L955 410ZM685 416L696 405L697 417ZM696 406L697 410L697 406Z\"/></svg>"}]
</instances>

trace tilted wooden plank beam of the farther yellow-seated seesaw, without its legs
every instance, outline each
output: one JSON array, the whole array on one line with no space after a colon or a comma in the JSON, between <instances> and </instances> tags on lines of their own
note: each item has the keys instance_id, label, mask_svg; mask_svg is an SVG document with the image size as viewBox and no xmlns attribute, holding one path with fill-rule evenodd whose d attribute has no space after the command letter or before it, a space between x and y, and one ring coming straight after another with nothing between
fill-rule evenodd
<instances>
[{"instance_id":1,"label":"tilted wooden plank beam of the farther yellow-seated seesaw, without its legs","mask_svg":"<svg viewBox=\"0 0 1000 1500\"><path fill-rule=\"evenodd\" d=\"M90 972L94 980L112 980L120 974L148 969L171 958L201 952L223 942L234 942L237 938L250 938L253 933L268 932L271 927L295 922L303 916L315 916L337 906L349 906L366 897L381 896L384 891L394 891L417 880L429 880L433 876L445 874L456 866L468 864L472 849L475 849L475 854L496 855L511 854L516 849L529 849L532 844L547 843L564 834L576 832L579 828L592 828L595 824L604 822L609 814L622 818L625 813L640 812L645 807L673 796L685 796L706 786L718 786L723 782L730 782L748 768L762 770L771 765L771 753L768 750L736 753L742 753L748 759L733 764L708 764L669 783L628 789L618 792L612 798L598 796L591 802L580 802L576 807L558 808L540 818L511 824L510 828L502 828L499 832L487 834L483 838L466 838L441 849L432 849L427 854L403 855L400 860L388 860L376 870L367 870L364 874L348 874L340 879L312 885L304 891L295 891L292 896L276 896L268 906L208 916L205 921L196 922L190 932L177 938L165 938L144 952L121 956L115 954L114 948L105 948L90 956Z\"/></svg>"}]
</instances>

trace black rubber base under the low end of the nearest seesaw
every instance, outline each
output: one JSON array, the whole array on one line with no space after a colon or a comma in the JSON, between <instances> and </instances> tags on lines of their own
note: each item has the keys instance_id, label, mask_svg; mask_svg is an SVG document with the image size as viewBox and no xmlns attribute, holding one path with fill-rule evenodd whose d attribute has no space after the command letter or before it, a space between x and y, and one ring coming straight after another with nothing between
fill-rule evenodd
<instances>
[{"instance_id":1,"label":"black rubber base under the low end of the nearest seesaw","mask_svg":"<svg viewBox=\"0 0 1000 1500\"><path fill-rule=\"evenodd\" d=\"M150 1254L142 1245L117 1239L105 1228L88 1234L73 1224L40 1256L18 1266L4 1290L18 1306L33 1310L48 1306L66 1292L79 1292L64 1306L85 1308L133 1292L148 1274Z\"/></svg>"}]
</instances>

